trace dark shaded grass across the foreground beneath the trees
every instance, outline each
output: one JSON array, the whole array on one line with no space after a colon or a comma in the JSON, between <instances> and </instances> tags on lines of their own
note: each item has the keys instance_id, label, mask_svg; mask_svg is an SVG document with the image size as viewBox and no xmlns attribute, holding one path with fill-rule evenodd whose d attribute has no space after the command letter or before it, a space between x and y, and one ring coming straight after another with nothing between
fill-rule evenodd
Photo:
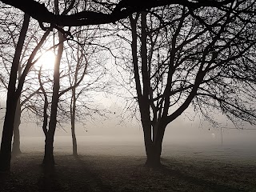
<instances>
[{"instance_id":1,"label":"dark shaded grass across the foreground beneath the trees","mask_svg":"<svg viewBox=\"0 0 256 192\"><path fill-rule=\"evenodd\" d=\"M142 157L55 154L55 160L54 170L46 172L42 154L21 154L10 173L0 173L0 191L256 192L254 162L163 158L164 166L155 170L143 166Z\"/></svg>"}]
</instances>

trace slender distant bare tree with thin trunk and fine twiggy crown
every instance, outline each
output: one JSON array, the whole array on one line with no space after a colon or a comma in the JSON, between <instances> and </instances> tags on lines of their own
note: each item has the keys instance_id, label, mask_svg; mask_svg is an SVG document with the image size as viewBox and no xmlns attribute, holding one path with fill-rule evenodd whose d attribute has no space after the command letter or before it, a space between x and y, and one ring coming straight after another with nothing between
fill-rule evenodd
<instances>
[{"instance_id":1,"label":"slender distant bare tree with thin trunk and fine twiggy crown","mask_svg":"<svg viewBox=\"0 0 256 192\"><path fill-rule=\"evenodd\" d=\"M88 121L89 118L93 118L94 114L102 115L101 112L104 109L98 109L94 102L94 96L91 94L103 92L109 87L106 78L102 82L106 73L105 64L100 59L98 62L94 59L100 57L98 53L102 52L102 47L99 46L99 41L102 38L97 35L100 28L80 27L77 30L78 32L74 35L77 45L76 47L74 47L75 44L69 45L71 59L68 62L68 82L71 87L70 123L74 156L78 155L75 122Z\"/></svg>"}]
</instances>

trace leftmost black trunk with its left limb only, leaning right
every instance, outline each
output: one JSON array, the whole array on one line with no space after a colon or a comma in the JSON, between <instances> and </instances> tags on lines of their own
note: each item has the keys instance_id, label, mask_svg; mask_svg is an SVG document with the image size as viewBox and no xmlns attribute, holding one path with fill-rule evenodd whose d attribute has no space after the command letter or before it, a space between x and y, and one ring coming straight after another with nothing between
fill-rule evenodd
<instances>
[{"instance_id":1,"label":"leftmost black trunk with its left limb only, leaning right","mask_svg":"<svg viewBox=\"0 0 256 192\"><path fill-rule=\"evenodd\" d=\"M22 54L22 47L26 38L26 31L28 30L30 22L30 16L24 15L24 21L22 24L22 30L18 38L17 47L14 54L14 60L10 70L10 80L8 84L8 92L6 99L6 116L2 130L2 142L0 150L0 170L10 170L10 158L11 158L11 141L14 131L14 118L16 112L16 106L20 95L16 94L15 86L17 80L17 72L19 60Z\"/></svg>"}]
</instances>

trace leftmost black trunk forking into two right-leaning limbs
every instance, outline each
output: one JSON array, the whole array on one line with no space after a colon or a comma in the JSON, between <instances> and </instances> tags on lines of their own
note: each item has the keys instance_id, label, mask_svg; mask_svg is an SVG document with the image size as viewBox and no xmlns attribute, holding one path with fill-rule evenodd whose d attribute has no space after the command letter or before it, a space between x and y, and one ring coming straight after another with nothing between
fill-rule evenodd
<instances>
[{"instance_id":1,"label":"leftmost black trunk forking into two right-leaning limbs","mask_svg":"<svg viewBox=\"0 0 256 192\"><path fill-rule=\"evenodd\" d=\"M25 15L24 22L22 25L22 30L18 38L17 48L14 54L14 60L12 62L10 70L10 78L8 84L7 100L6 100L6 116L4 121L4 126L2 130L2 143L1 143L1 152L0 152L0 164L1 170L10 170L10 157L11 157L11 141L14 131L14 118L15 111L17 107L18 98L22 93L22 88L25 82L26 74L28 74L31 66L33 66L34 57L36 56L38 50L42 46L43 42L46 40L50 30L46 30L45 34L42 35L41 40L38 42L38 45L35 46L34 50L30 54L30 58L26 62L26 67L22 71L21 78L18 81L18 86L16 88L17 74L18 74L18 65L20 62L20 57L22 53L22 47L24 40L26 38L26 31L28 29L30 22L30 16Z\"/></svg>"}]
</instances>

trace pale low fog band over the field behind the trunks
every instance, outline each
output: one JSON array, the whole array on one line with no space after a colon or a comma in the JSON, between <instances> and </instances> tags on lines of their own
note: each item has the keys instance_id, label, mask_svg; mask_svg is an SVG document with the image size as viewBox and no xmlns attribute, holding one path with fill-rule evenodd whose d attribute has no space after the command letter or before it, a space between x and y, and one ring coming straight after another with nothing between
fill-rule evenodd
<instances>
[{"instance_id":1,"label":"pale low fog band over the field behind the trunks","mask_svg":"<svg viewBox=\"0 0 256 192\"><path fill-rule=\"evenodd\" d=\"M119 112L115 110L109 118L77 123L76 135L78 154L139 155L145 156L143 131L139 122L120 123ZM162 145L162 156L205 155L226 158L256 158L256 130L230 129L225 118L219 119L226 127L215 128L209 123L185 115L166 127ZM2 134L2 122L1 122ZM248 126L244 128L252 128ZM20 126L21 150L43 152L44 135L42 127L22 121ZM72 154L70 124L57 127L54 139L56 153Z\"/></svg>"}]
</instances>

